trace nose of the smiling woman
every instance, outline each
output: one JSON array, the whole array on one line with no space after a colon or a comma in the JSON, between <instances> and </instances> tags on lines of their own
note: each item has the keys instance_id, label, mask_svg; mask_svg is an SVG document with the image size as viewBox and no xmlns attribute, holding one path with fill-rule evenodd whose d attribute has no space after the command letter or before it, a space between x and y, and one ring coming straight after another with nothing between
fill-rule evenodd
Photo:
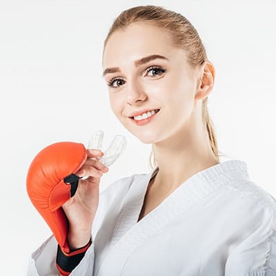
<instances>
[{"instance_id":1,"label":"nose of the smiling woman","mask_svg":"<svg viewBox=\"0 0 276 276\"><path fill-rule=\"evenodd\" d=\"M146 92L144 92L144 89L141 86L141 83L139 83L138 79L128 81L127 89L127 103L130 106L135 105L138 101L144 102L148 97L146 95Z\"/></svg>"}]
</instances>

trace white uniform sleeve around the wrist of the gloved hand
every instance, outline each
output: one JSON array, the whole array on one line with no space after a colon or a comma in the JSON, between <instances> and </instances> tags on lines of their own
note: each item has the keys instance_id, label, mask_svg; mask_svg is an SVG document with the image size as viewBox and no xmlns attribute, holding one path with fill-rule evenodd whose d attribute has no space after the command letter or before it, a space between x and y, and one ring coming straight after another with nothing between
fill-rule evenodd
<instances>
[{"instance_id":1,"label":"white uniform sleeve around the wrist of the gloved hand","mask_svg":"<svg viewBox=\"0 0 276 276\"><path fill-rule=\"evenodd\" d=\"M81 262L72 270L70 276L91 276L94 266L94 244L92 243L86 251ZM27 276L57 276L59 272L56 267L57 241L52 235L37 250L32 253Z\"/></svg>"}]
</instances>

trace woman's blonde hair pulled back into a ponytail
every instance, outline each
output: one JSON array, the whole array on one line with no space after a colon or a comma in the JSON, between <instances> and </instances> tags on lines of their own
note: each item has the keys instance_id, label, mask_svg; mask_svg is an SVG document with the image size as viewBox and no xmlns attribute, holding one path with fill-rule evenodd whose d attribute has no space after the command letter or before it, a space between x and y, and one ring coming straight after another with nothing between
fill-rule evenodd
<instances>
[{"instance_id":1,"label":"woman's blonde hair pulled back into a ponytail","mask_svg":"<svg viewBox=\"0 0 276 276\"><path fill-rule=\"evenodd\" d=\"M119 14L110 27L108 35L104 41L103 50L113 32L121 30L130 25L130 23L144 22L151 23L159 28L164 28L170 32L172 42L175 46L186 50L188 63L192 68L199 68L205 61L208 61L206 50L194 26L182 14L167 10L161 6L137 6L124 10ZM217 139L213 121L208 112L208 97L202 100L202 119L206 124L210 147L213 150L217 161L219 161L219 150L217 148ZM158 166L155 161L154 151L150 152L149 165L151 168Z\"/></svg>"}]
</instances>

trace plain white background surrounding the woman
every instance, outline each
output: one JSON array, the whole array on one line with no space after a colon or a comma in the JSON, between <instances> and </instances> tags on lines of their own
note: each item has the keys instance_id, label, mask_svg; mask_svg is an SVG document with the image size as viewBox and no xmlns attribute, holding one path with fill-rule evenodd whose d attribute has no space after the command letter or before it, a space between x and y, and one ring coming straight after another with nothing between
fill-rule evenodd
<instances>
[{"instance_id":1,"label":"plain white background surrounding the woman","mask_svg":"<svg viewBox=\"0 0 276 276\"><path fill-rule=\"evenodd\" d=\"M57 141L87 144L101 129L108 146L128 146L102 187L149 172L150 145L124 130L101 78L103 39L131 6L181 12L197 28L216 68L209 96L219 150L248 164L251 179L276 197L276 1L0 1L1 275L26 275L28 257L50 230L26 193L30 161Z\"/></svg>"}]
</instances>

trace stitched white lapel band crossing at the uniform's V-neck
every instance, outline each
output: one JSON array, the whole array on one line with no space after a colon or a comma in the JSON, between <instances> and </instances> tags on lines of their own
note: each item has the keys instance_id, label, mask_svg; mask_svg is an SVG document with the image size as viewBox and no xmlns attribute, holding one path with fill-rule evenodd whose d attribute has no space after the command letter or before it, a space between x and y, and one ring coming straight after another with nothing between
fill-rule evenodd
<instances>
[{"instance_id":1,"label":"stitched white lapel band crossing at the uniform's V-neck","mask_svg":"<svg viewBox=\"0 0 276 276\"><path fill-rule=\"evenodd\" d=\"M211 178L210 177L211 173ZM210 195L213 191L237 181L237 184L249 181L246 163L241 160L228 160L217 164L184 181L164 201L138 223L139 213L151 175L143 177L132 185L126 195L117 225L115 226L113 245L110 252L99 267L97 276L118 276L126 264L128 257L135 248L148 237L170 223L179 213L193 206L197 201ZM132 225L132 226L131 226ZM97 253L96 253L97 254Z\"/></svg>"}]
</instances>

